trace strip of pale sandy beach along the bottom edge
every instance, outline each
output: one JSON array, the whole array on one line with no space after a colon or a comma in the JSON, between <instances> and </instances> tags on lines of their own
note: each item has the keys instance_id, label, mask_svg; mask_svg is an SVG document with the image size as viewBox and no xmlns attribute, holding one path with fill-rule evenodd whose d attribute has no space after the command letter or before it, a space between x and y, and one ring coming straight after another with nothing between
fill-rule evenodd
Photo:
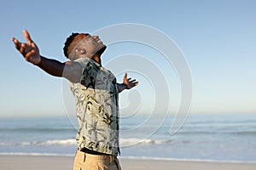
<instances>
[{"instance_id":1,"label":"strip of pale sandy beach along the bottom edge","mask_svg":"<svg viewBox=\"0 0 256 170\"><path fill-rule=\"evenodd\" d=\"M157 161L119 159L123 170L254 170L256 163L208 162L208 161ZM1 170L54 169L70 170L73 168L72 156L0 156Z\"/></svg>"}]
</instances>

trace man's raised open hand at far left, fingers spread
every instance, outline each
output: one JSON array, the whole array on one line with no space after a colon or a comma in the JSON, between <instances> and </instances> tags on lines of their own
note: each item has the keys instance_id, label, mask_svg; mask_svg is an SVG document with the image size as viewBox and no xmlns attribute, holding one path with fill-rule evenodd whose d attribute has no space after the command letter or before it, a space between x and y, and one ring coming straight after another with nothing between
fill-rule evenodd
<instances>
[{"instance_id":1,"label":"man's raised open hand at far left, fingers spread","mask_svg":"<svg viewBox=\"0 0 256 170\"><path fill-rule=\"evenodd\" d=\"M20 51L20 54L22 54L28 62L38 65L41 62L38 46L32 41L28 31L24 30L23 35L26 38L26 42L19 42L15 37L12 37L15 48Z\"/></svg>"}]
</instances>

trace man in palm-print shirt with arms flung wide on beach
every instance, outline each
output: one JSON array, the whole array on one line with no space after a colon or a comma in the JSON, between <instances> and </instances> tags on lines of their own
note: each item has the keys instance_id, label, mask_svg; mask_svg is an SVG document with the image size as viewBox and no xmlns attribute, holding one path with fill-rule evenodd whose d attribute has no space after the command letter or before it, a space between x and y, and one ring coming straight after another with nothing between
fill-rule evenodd
<instances>
[{"instance_id":1,"label":"man in palm-print shirt with arms flung wide on beach","mask_svg":"<svg viewBox=\"0 0 256 170\"><path fill-rule=\"evenodd\" d=\"M55 77L65 77L76 99L79 121L78 150L73 169L120 169L118 94L137 86L136 80L125 77L117 83L113 74L102 67L101 56L107 48L98 36L73 33L63 48L69 61L61 63L40 55L29 33L26 42L14 37L15 48L28 62Z\"/></svg>"}]
</instances>

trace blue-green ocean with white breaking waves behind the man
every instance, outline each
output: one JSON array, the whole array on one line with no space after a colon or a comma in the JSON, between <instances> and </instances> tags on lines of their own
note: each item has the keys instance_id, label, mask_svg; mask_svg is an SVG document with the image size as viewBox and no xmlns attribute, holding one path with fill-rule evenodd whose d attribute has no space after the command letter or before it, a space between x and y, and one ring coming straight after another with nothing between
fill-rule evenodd
<instances>
[{"instance_id":1,"label":"blue-green ocean with white breaking waves behind the man","mask_svg":"<svg viewBox=\"0 0 256 170\"><path fill-rule=\"evenodd\" d=\"M120 117L120 157L256 162L256 114L190 114L170 134L174 116ZM76 119L2 118L0 155L74 156Z\"/></svg>"}]
</instances>

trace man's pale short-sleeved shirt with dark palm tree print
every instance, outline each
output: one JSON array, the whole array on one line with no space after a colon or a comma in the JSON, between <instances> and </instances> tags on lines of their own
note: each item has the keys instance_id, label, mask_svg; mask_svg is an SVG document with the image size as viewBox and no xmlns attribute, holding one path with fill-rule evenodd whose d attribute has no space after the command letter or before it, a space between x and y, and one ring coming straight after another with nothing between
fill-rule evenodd
<instances>
[{"instance_id":1,"label":"man's pale short-sleeved shirt with dark palm tree print","mask_svg":"<svg viewBox=\"0 0 256 170\"><path fill-rule=\"evenodd\" d=\"M79 122L79 150L119 154L119 92L113 74L87 58L76 59L83 67L79 83L69 82Z\"/></svg>"}]
</instances>

